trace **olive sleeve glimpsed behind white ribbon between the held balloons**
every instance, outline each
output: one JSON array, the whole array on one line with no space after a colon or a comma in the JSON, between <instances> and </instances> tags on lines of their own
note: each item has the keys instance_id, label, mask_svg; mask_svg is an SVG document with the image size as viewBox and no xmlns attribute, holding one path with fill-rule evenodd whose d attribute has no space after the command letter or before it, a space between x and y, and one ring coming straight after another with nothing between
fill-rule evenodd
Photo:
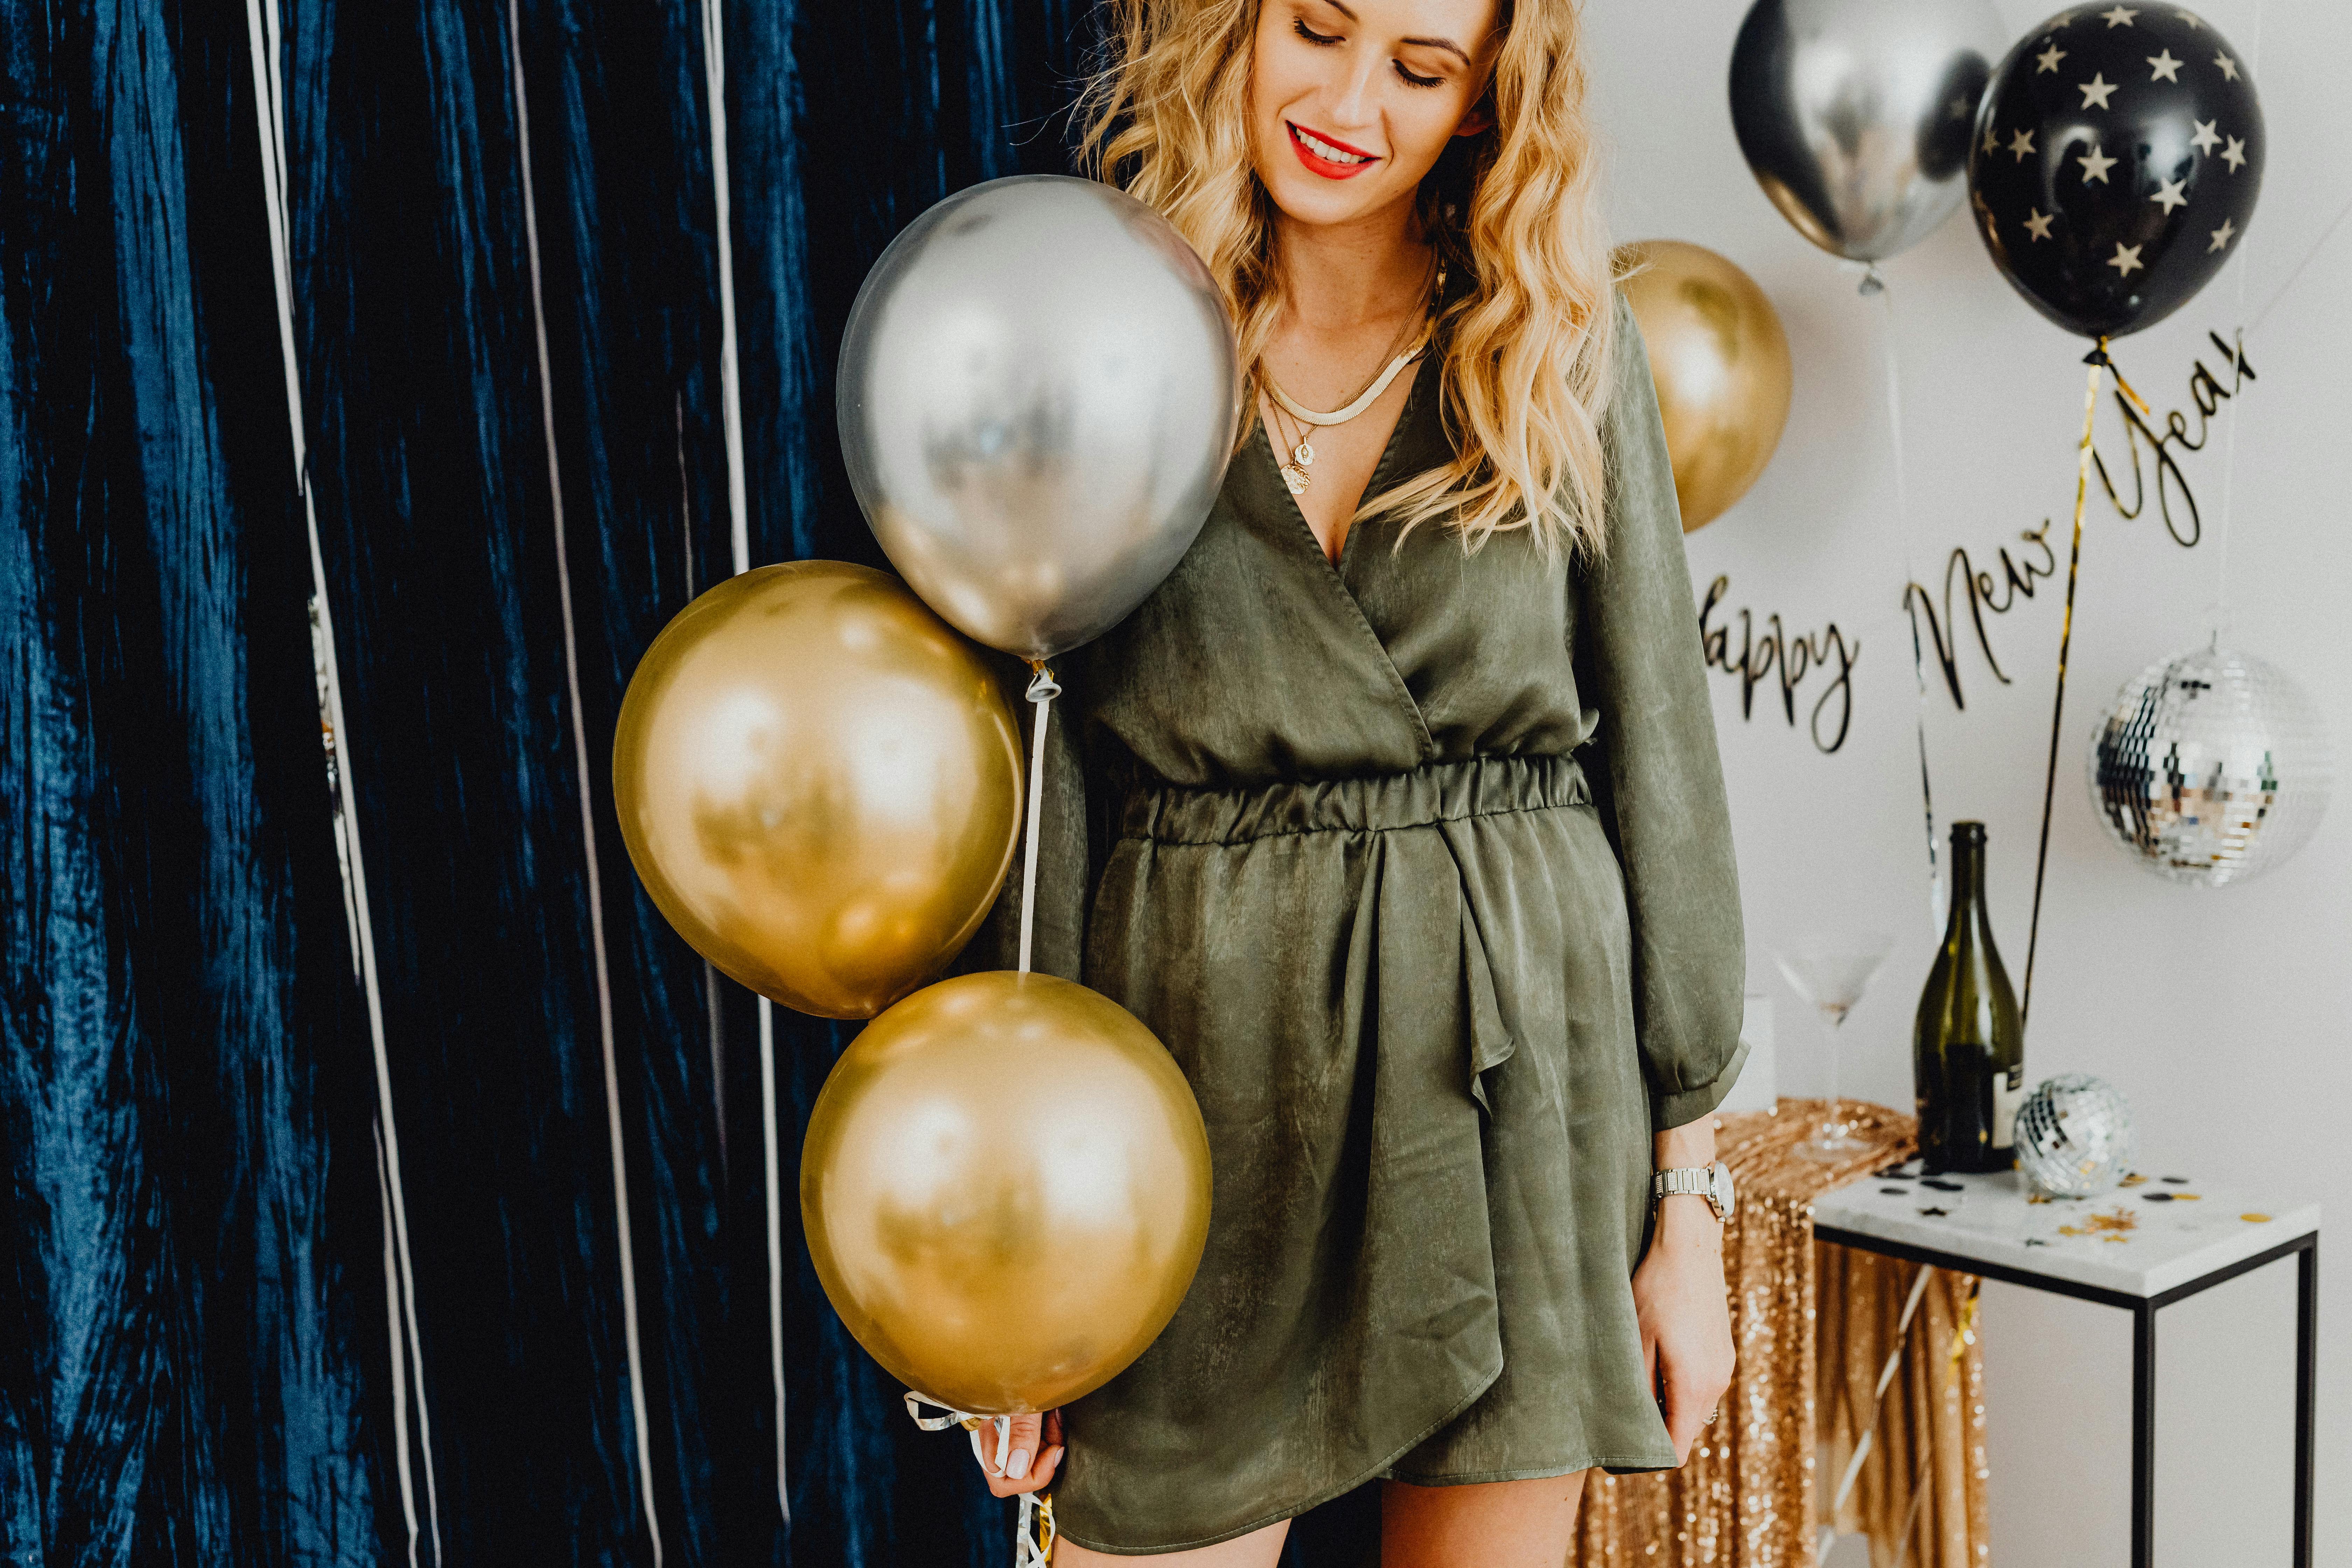
<instances>
[{"instance_id":1,"label":"olive sleeve glimpsed behind white ribbon between the held balloons","mask_svg":"<svg viewBox=\"0 0 2352 1568\"><path fill-rule=\"evenodd\" d=\"M1021 719L1021 766L1023 778L1030 755L1030 726L1037 708L1023 696L1028 691L1028 665L1016 658L990 656L997 679ZM1061 661L1075 665L1077 661ZM1087 835L1087 766L1080 736L1080 705L1070 679L1063 677L1063 696L1054 701L1054 717L1044 733L1044 804L1037 813L1037 929L1033 936L1030 966L1040 973L1077 980L1087 950L1087 893L1094 884L1089 835ZM1025 806L1023 806L1025 809ZM1021 863L1025 846L1014 851L1011 875L997 893L988 919L964 945L955 961L957 973L976 969L1016 969L1021 964Z\"/></svg>"}]
</instances>

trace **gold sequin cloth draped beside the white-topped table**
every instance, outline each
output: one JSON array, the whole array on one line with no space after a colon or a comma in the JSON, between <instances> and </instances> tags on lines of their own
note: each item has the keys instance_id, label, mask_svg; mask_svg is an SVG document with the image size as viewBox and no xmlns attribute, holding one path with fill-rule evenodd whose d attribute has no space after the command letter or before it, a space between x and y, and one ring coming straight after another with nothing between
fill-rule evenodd
<instances>
[{"instance_id":1,"label":"gold sequin cloth draped beside the white-topped table","mask_svg":"<svg viewBox=\"0 0 2352 1568\"><path fill-rule=\"evenodd\" d=\"M1795 1152L1823 1110L1780 1100L1778 1112L1719 1119L1717 1147L1740 1192L1724 1232L1738 1371L1684 1469L1592 1476L1576 1568L1813 1563L1872 1403L1875 1436L1837 1528L1870 1535L1872 1568L1896 1568L1898 1556L1905 1568L1987 1561L1985 1368L1976 1335L1962 1333L1976 1279L1938 1269L1898 1340L1917 1265L1816 1244L1813 1199L1907 1159L1915 1121L1849 1100L1870 1150L1825 1166ZM1898 1342L1893 1382L1875 1401Z\"/></svg>"}]
</instances>

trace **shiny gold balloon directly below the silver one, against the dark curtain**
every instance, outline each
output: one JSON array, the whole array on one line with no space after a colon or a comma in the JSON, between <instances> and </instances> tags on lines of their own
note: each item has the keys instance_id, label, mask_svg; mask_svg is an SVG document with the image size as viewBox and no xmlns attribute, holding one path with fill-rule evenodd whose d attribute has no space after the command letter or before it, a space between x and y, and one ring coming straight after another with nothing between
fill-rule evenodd
<instances>
[{"instance_id":1,"label":"shiny gold balloon directly below the silver one, against the dark curtain","mask_svg":"<svg viewBox=\"0 0 2352 1568\"><path fill-rule=\"evenodd\" d=\"M637 663L612 743L644 891L724 973L870 1018L971 940L1021 830L1021 731L981 654L896 578L727 578Z\"/></svg>"}]
</instances>

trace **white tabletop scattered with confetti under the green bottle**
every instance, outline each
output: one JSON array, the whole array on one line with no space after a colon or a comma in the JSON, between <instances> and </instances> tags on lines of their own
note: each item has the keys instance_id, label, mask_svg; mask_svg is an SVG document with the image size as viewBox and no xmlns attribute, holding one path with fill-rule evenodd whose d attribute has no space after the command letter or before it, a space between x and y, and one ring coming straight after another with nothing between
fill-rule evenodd
<instances>
[{"instance_id":1,"label":"white tabletop scattered with confetti under the green bottle","mask_svg":"<svg viewBox=\"0 0 2352 1568\"><path fill-rule=\"evenodd\" d=\"M2169 1166L2093 1199L2034 1199L2016 1171L1889 1166L1825 1192L1813 1225L2124 1295L2161 1295L2319 1229L2319 1204L2251 1194Z\"/></svg>"}]
</instances>

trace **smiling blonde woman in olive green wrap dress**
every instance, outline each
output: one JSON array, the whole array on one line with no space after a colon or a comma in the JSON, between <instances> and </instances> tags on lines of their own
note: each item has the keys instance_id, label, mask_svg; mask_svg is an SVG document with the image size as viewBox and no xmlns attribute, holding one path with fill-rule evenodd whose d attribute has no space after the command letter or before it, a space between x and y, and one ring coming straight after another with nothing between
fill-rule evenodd
<instances>
[{"instance_id":1,"label":"smiling blonde woman in olive green wrap dress","mask_svg":"<svg viewBox=\"0 0 2352 1568\"><path fill-rule=\"evenodd\" d=\"M1089 153L1209 261L1251 418L1061 670L1040 966L1167 1041L1216 1201L990 1488L1054 1486L1061 1568L1263 1568L1371 1479L1385 1568L1559 1568L1585 1472L1679 1465L1731 1378L1743 980L1576 5L1108 9Z\"/></svg>"}]
</instances>

